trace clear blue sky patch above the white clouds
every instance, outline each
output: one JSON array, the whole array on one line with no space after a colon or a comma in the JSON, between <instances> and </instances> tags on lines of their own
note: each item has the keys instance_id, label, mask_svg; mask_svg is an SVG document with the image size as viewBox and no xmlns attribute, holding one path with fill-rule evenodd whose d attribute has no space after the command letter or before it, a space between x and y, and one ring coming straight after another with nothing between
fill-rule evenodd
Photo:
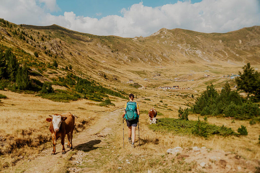
<instances>
[{"instance_id":1,"label":"clear blue sky patch above the white clouds","mask_svg":"<svg viewBox=\"0 0 260 173\"><path fill-rule=\"evenodd\" d=\"M181 1L181 0L179 0ZM192 0L191 3L201 2L202 0ZM57 12L51 12L52 15L63 15L65 11L73 11L76 16L88 16L95 18L102 18L108 15L118 15L122 16L120 13L121 9L128 9L133 4L138 4L143 2L145 6L157 7L165 4L175 4L177 0L174 1L155 1L155 0L144 0L144 1L125 1L125 0L56 0L57 5L60 10Z\"/></svg>"}]
</instances>

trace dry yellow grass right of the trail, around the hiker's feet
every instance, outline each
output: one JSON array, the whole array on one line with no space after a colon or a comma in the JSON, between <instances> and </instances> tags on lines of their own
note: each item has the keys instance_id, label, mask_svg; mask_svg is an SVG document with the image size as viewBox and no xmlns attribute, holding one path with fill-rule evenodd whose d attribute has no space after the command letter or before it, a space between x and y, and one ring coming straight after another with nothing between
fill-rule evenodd
<instances>
[{"instance_id":1,"label":"dry yellow grass right of the trail, around the hiker's feet","mask_svg":"<svg viewBox=\"0 0 260 173\"><path fill-rule=\"evenodd\" d=\"M140 109L148 109L144 104L140 103ZM160 110L161 111L161 110ZM163 111L163 110L162 110ZM165 111L165 115L161 117L177 117L177 111ZM161 118L158 117L158 118ZM190 115L191 120L196 120L197 115ZM121 121L121 119L119 120ZM209 139L197 137L193 135L173 135L171 133L152 132L148 126L147 115L140 115L140 146L138 145L138 129L136 129L135 149L132 149L127 141L127 127L125 126L125 148L122 148L122 126L116 127L115 136L110 141L110 144L116 146L113 153L106 153L108 160L99 172L186 172L198 171L195 169L195 163L183 163L166 153L169 148L180 146L182 148L191 148L193 146L205 146L214 150L231 151L243 158L249 160L260 159L260 149L258 142L259 124L249 125L248 121L235 121L225 118L209 117L209 123L231 127L237 130L238 127L244 125L247 127L248 136L212 136ZM126 163L129 159L131 164ZM145 160L143 160L145 159ZM123 163L121 163L123 162ZM121 167L122 169L118 169Z\"/></svg>"}]
</instances>

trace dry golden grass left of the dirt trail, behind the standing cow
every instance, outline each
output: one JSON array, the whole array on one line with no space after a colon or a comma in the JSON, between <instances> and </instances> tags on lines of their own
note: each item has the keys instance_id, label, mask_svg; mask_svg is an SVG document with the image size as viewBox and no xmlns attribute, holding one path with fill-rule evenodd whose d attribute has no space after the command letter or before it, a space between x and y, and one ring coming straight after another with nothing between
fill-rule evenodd
<instances>
[{"instance_id":1,"label":"dry golden grass left of the dirt trail, behind the standing cow","mask_svg":"<svg viewBox=\"0 0 260 173\"><path fill-rule=\"evenodd\" d=\"M31 159L52 145L49 123L46 121L48 115L71 112L77 116L74 130L77 133L94 123L102 112L122 106L120 102L115 102L116 106L109 108L95 106L96 102L84 99L61 103L30 94L0 93L8 97L2 100L0 110L0 169L15 165L24 158Z\"/></svg>"}]
</instances>

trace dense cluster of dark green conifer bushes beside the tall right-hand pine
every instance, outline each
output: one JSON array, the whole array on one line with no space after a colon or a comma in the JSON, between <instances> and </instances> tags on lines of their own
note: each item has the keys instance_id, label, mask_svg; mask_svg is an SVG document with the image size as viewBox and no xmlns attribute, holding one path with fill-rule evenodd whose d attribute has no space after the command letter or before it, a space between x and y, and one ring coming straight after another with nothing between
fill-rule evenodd
<instances>
[{"instance_id":1,"label":"dense cluster of dark green conifer bushes beside the tall right-hand pine","mask_svg":"<svg viewBox=\"0 0 260 173\"><path fill-rule=\"evenodd\" d=\"M219 94L212 84L207 86L201 96L196 99L191 108L192 112L200 115L220 115L236 119L251 119L260 115L259 105L244 100L237 91L231 91L230 85L225 84Z\"/></svg>"}]
</instances>

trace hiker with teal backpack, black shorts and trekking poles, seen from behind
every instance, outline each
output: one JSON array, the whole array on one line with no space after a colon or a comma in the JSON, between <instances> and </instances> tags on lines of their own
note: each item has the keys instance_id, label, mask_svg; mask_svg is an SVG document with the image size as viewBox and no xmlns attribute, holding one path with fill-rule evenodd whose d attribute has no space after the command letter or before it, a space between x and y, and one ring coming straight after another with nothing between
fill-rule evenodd
<instances>
[{"instance_id":1,"label":"hiker with teal backpack, black shorts and trekking poles, seen from behind","mask_svg":"<svg viewBox=\"0 0 260 173\"><path fill-rule=\"evenodd\" d=\"M135 141L135 129L137 123L139 122L139 106L134 100L134 94L129 94L129 102L125 104L125 112L122 117L126 119L126 124L128 127L128 141L132 142L131 147L134 148ZM131 139L132 136L132 139Z\"/></svg>"}]
</instances>

